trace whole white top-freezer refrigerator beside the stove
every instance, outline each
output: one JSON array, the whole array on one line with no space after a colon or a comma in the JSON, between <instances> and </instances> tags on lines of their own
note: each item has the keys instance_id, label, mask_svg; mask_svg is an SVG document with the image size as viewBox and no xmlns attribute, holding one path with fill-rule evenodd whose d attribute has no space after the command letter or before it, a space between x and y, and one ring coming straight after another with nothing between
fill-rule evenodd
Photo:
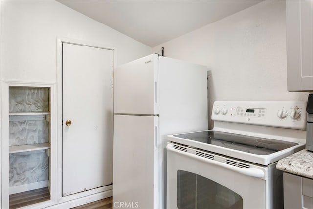
<instances>
[{"instance_id":1,"label":"whole white top-freezer refrigerator beside the stove","mask_svg":"<svg viewBox=\"0 0 313 209\"><path fill-rule=\"evenodd\" d=\"M152 54L115 68L113 208L165 208L166 136L207 124L206 67Z\"/></svg>"}]
</instances>

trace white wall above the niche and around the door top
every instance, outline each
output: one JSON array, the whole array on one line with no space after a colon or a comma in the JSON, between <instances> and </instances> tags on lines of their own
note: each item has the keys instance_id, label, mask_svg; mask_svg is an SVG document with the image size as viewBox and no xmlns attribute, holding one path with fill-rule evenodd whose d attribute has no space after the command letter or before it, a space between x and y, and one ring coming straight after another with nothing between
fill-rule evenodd
<instances>
[{"instance_id":1,"label":"white wall above the niche and around the door top","mask_svg":"<svg viewBox=\"0 0 313 209\"><path fill-rule=\"evenodd\" d=\"M63 4L2 1L1 78L56 82L57 37L117 48L120 65L151 53L143 45Z\"/></svg>"}]
</instances>

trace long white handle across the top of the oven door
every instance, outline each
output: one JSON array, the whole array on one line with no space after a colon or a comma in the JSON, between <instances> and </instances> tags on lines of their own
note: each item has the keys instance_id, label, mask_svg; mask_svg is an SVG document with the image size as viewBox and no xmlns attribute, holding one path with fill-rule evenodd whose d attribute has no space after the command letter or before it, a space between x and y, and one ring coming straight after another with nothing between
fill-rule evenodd
<instances>
[{"instance_id":1,"label":"long white handle across the top of the oven door","mask_svg":"<svg viewBox=\"0 0 313 209\"><path fill-rule=\"evenodd\" d=\"M232 170L232 171L235 171L237 173L244 174L246 176L258 177L258 178L263 178L265 176L264 171L261 170L261 169L258 169L258 168L241 168L241 167L236 167L236 166L233 166L233 165L229 165L229 164L226 164L226 163L222 163L222 162L219 162L219 161L215 161L215 160L212 160L212 159L201 157L201 156L198 156L196 154L192 154L192 153L188 153L188 152L185 152L185 151L180 151L180 150L174 149L169 144L167 145L166 149L169 150L169 151L172 151L172 152L179 153L180 155L185 155L185 156L194 158L196 160L200 160L200 161L205 162L205 163L210 163L210 164L218 165L220 167L224 167L224 168L226 168L228 170Z\"/></svg>"}]
</instances>

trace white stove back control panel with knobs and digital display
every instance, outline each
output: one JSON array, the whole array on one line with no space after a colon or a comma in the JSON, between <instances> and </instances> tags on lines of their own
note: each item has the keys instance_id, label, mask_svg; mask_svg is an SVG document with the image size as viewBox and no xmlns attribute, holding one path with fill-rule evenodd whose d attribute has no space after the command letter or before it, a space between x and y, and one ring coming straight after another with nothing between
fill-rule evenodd
<instances>
[{"instance_id":1,"label":"white stove back control panel with knobs and digital display","mask_svg":"<svg viewBox=\"0 0 313 209\"><path fill-rule=\"evenodd\" d=\"M306 129L306 102L216 101L212 120Z\"/></svg>"}]
</instances>

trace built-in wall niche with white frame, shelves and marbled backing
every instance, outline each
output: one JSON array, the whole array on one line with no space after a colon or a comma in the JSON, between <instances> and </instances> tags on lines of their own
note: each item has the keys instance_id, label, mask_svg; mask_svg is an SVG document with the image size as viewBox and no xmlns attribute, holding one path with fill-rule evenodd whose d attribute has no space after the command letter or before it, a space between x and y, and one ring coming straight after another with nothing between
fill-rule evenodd
<instances>
[{"instance_id":1,"label":"built-in wall niche with white frame, shelves and marbled backing","mask_svg":"<svg viewBox=\"0 0 313 209\"><path fill-rule=\"evenodd\" d=\"M2 208L40 208L56 191L54 84L2 82L2 94Z\"/></svg>"}]
</instances>

